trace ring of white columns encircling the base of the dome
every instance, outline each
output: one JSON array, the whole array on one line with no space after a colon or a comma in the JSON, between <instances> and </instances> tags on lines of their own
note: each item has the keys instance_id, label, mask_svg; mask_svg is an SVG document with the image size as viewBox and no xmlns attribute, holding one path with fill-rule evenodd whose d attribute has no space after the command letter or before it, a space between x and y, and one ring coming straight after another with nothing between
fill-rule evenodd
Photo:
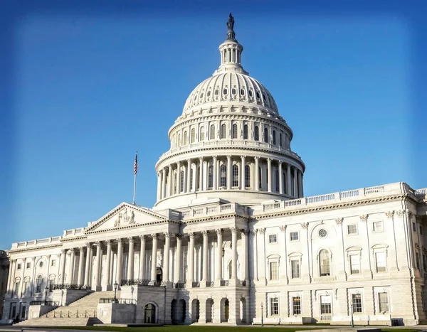
<instances>
[{"instance_id":1,"label":"ring of white columns encircling the base of the dome","mask_svg":"<svg viewBox=\"0 0 427 332\"><path fill-rule=\"evenodd\" d=\"M258 170L258 171L257 171ZM303 197L303 173L284 161L258 156L201 156L177 161L157 174L157 200L207 190L253 190Z\"/></svg>"}]
</instances>

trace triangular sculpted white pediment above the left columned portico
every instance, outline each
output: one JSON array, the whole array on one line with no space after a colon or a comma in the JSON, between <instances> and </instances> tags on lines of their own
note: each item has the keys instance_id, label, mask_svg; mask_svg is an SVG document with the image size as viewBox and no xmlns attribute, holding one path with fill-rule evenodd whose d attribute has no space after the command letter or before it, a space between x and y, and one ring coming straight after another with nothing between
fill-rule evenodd
<instances>
[{"instance_id":1,"label":"triangular sculpted white pediment above the left columned portico","mask_svg":"<svg viewBox=\"0 0 427 332\"><path fill-rule=\"evenodd\" d=\"M122 203L90 225L85 233L120 230L167 220L167 217L138 205Z\"/></svg>"}]
</instances>

